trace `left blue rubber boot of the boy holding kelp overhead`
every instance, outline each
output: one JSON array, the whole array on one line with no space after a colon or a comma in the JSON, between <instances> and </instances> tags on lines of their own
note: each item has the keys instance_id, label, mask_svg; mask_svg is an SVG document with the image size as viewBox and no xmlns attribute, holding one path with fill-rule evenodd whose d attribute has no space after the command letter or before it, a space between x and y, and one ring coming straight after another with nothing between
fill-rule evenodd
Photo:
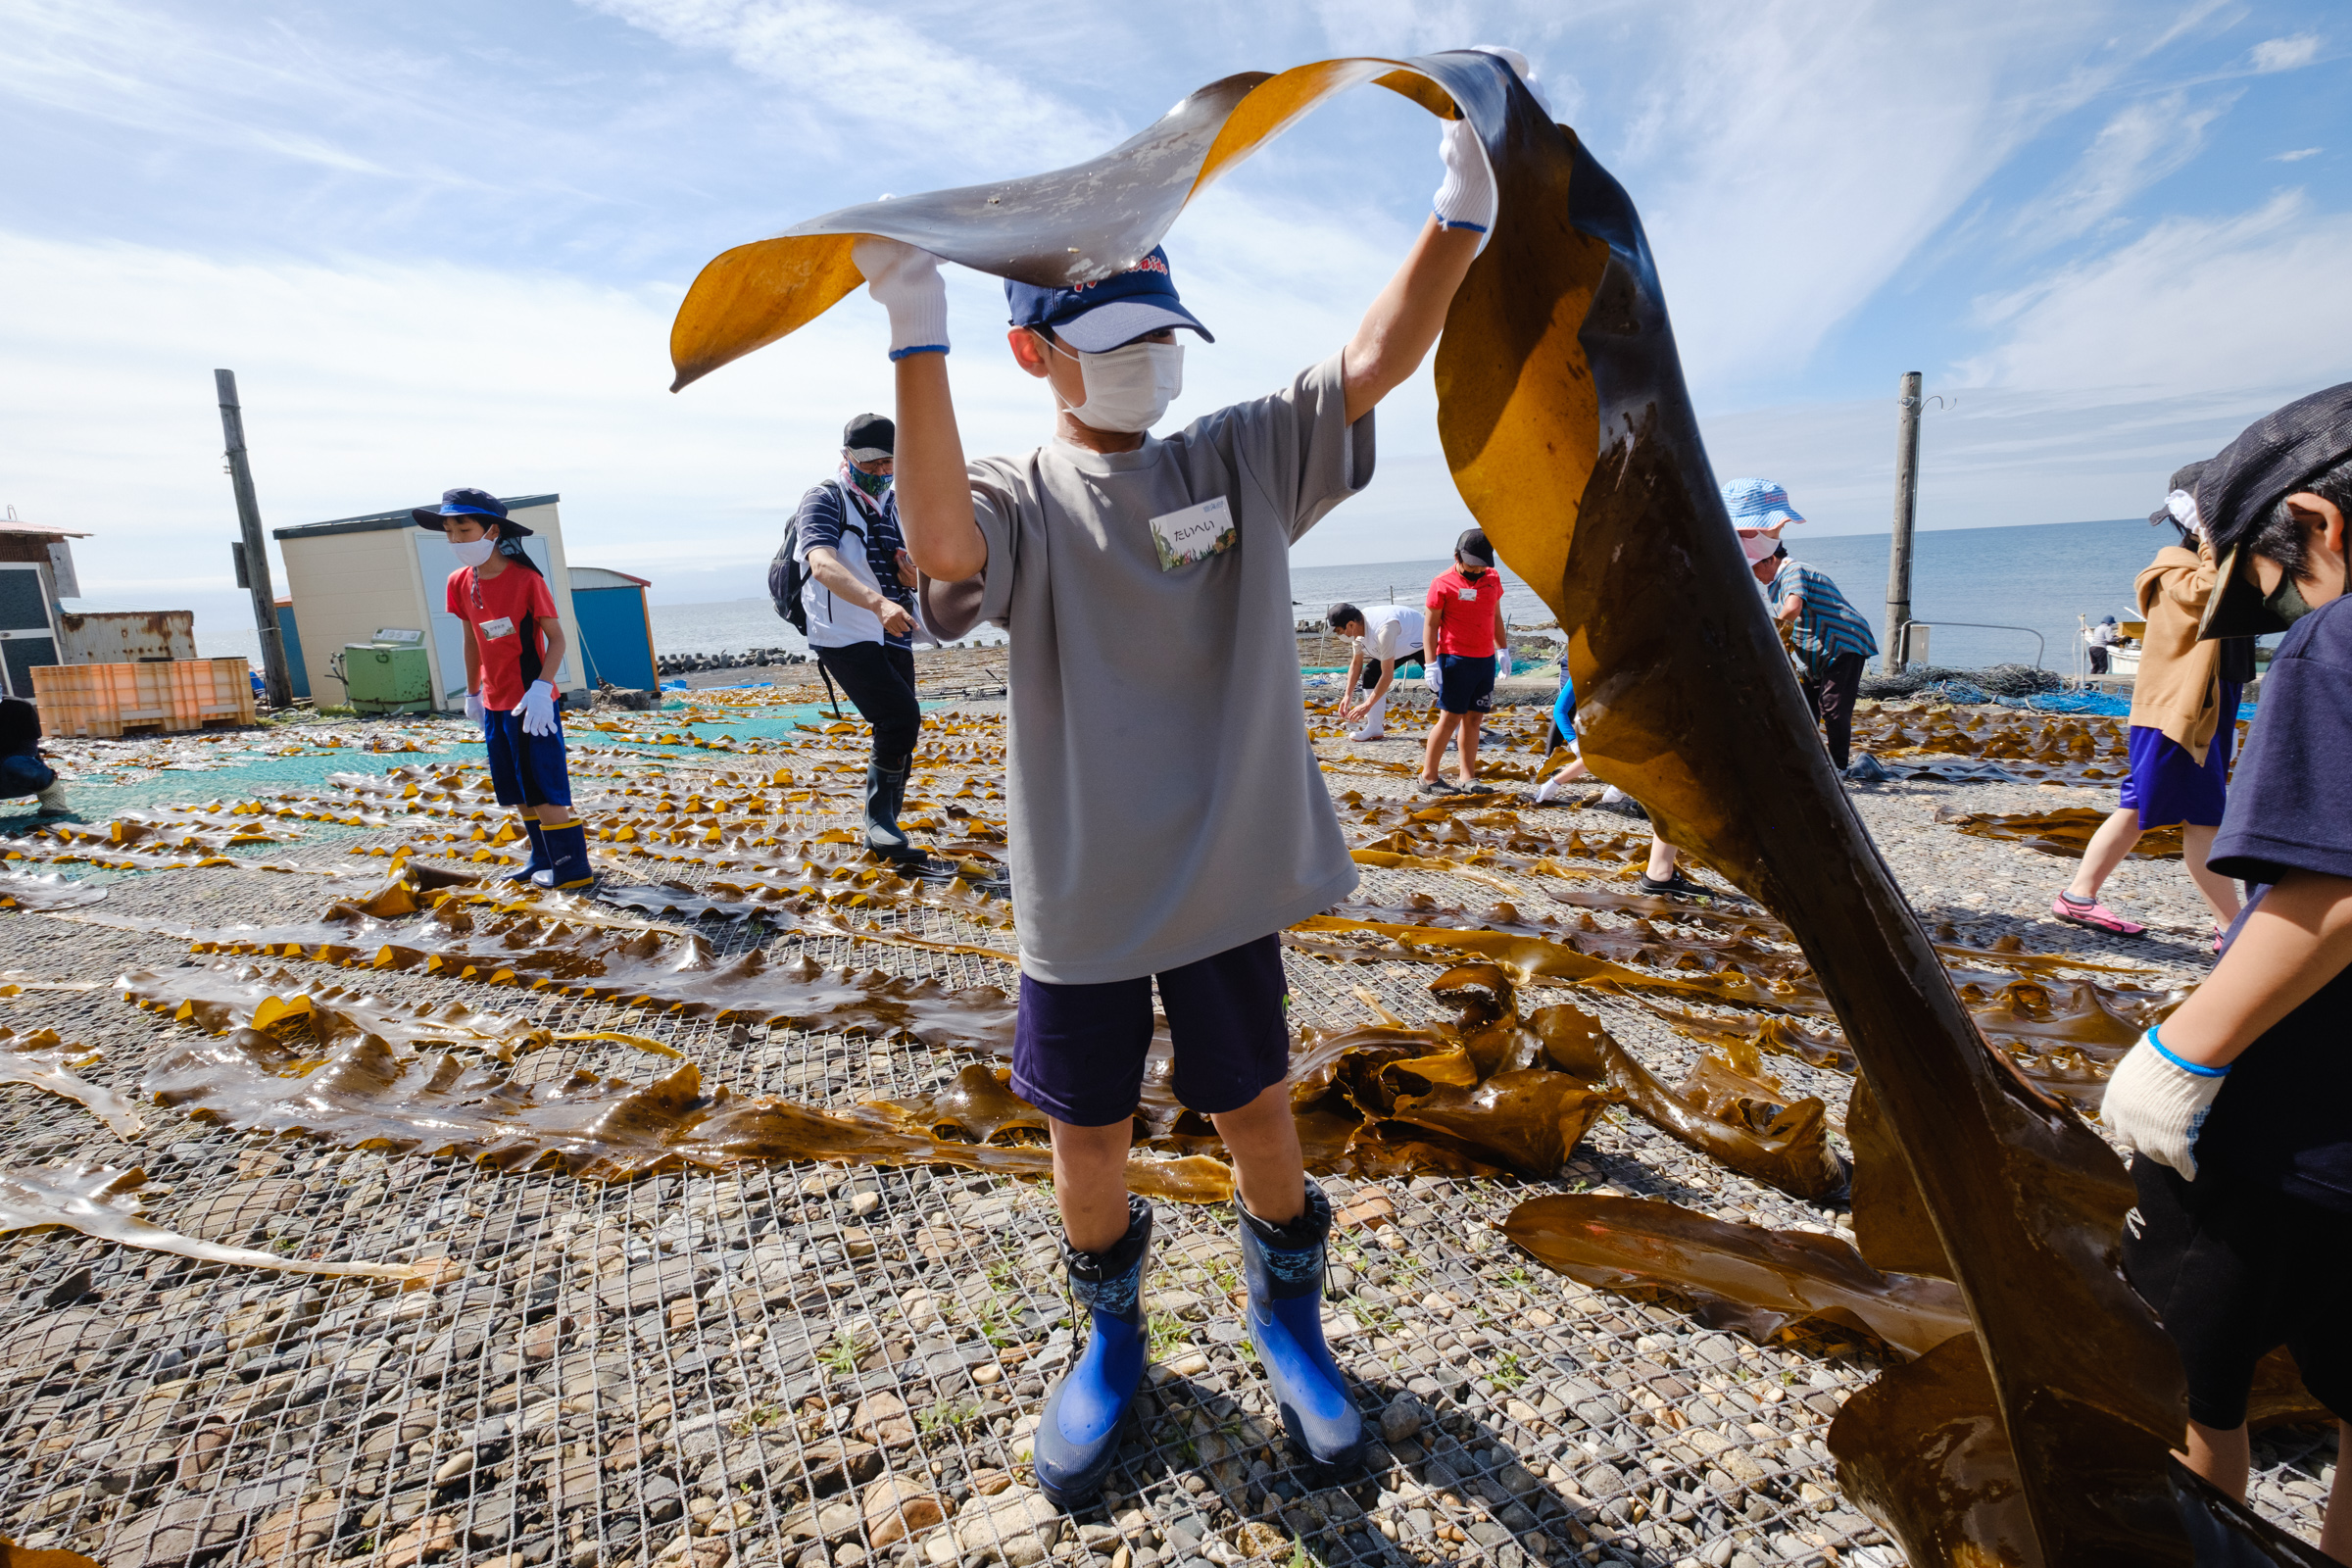
<instances>
[{"instance_id":1,"label":"left blue rubber boot of the boy holding kelp overhead","mask_svg":"<svg viewBox=\"0 0 2352 1568\"><path fill-rule=\"evenodd\" d=\"M1054 1507L1075 1512L1094 1500L1120 1450L1127 1406L1143 1382L1143 1269L1152 1251L1152 1206L1129 1194L1127 1234L1108 1251L1080 1253L1061 1244L1070 1295L1094 1319L1087 1349L1044 1396L1037 1418L1037 1490Z\"/></svg>"}]
</instances>

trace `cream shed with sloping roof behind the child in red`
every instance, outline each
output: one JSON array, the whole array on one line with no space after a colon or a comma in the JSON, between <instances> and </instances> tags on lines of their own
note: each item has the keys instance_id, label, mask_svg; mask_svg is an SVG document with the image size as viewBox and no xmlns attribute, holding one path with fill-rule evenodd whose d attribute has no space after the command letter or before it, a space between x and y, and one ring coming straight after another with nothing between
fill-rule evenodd
<instances>
[{"instance_id":1,"label":"cream shed with sloping roof behind the child in red","mask_svg":"<svg viewBox=\"0 0 2352 1568\"><path fill-rule=\"evenodd\" d=\"M588 682L581 677L581 625L572 614L572 567L564 562L564 531L555 515L560 496L499 496L508 515L532 536L522 541L532 562L548 578L555 618L572 651L548 677L574 705L586 705ZM416 505L430 505L419 501ZM372 642L379 628L430 632L426 654L433 663L433 689L442 708L466 705L466 632L447 604L449 574L456 555L433 529L419 529L412 508L306 522L273 529L287 562L287 595L301 621L303 672L320 701L341 701L341 686L327 672L329 661L353 642ZM553 592L564 585L564 592Z\"/></svg>"}]
</instances>

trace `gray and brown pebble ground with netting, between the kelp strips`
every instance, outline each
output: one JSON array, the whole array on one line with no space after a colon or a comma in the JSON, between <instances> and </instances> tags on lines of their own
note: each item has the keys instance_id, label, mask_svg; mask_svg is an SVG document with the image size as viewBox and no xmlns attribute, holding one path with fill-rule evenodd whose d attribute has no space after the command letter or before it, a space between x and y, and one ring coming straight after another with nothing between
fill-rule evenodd
<instances>
[{"instance_id":1,"label":"gray and brown pebble ground with netting, between the kelp strips","mask_svg":"<svg viewBox=\"0 0 2352 1568\"><path fill-rule=\"evenodd\" d=\"M1541 715L1498 724L1524 745ZM405 733L435 745L456 731ZM953 755L964 741L938 750ZM125 752L155 745L165 743L122 743ZM858 762L844 750L854 745L856 736L807 736L790 757L753 766L788 762L807 773L821 759ZM1371 745L1324 738L1319 750L1334 790L1397 797L1411 780L1378 764L1416 759L1418 733L1392 729ZM637 788L659 778L680 792L746 766L647 745L595 757L630 771ZM419 762L437 759L353 766ZM198 776L186 799L223 795L233 797ZM2110 903L2152 926L2147 940L2122 943L2049 919L2067 863L1931 820L1940 804L2105 806L2112 792L1896 783L1858 788L1853 804L1919 912L1959 924L1978 945L2013 931L2032 950L2131 959L2171 983L2211 964L2201 905L2178 863L2133 860L2110 884ZM1526 820L1588 837L1628 827L1595 811ZM233 865L66 865L106 884L108 898L64 914L308 919L329 884L261 872L256 860L381 867L346 851L381 851L407 830L310 820L278 827L296 842L235 846ZM689 884L710 875L694 860L647 870L609 846L607 865ZM1416 891L1491 900L1482 884L1392 870L1367 870L1359 898ZM898 924L927 938L1004 940L938 910ZM957 985L1011 980L1007 964L974 954L804 938L760 922L706 931L722 959L807 950ZM14 912L0 917L0 950L16 983L101 983L0 1001L0 1023L19 1032L54 1027L103 1048L106 1060L85 1070L94 1081L134 1091L151 1053L195 1037L103 985L127 969L191 961L183 943ZM652 1034L691 1058L706 1084L746 1093L849 1105L936 1088L960 1067L906 1039L715 1027L510 990L485 1001L480 985L437 976L287 966L400 1001L496 1004L557 1032ZM1305 1025L1364 1023L1367 997L1409 1023L1446 1016L1428 997L1430 966L1303 954L1289 966ZM1534 992L1531 1004L1564 997ZM1691 1041L1635 1006L1578 1001L1668 1081L1696 1058ZM574 1067L652 1081L675 1063L597 1041L527 1058L534 1081ZM1771 1067L1792 1091L1842 1110L1846 1079L1788 1058ZM1148 1293L1157 1363L1110 1490L1075 1519L1054 1514L1025 1469L1040 1394L1073 1352L1042 1187L809 1164L604 1187L242 1138L162 1107L146 1119L146 1135L125 1145L71 1103L0 1088L9 1166L136 1164L160 1225L287 1255L430 1262L437 1284L400 1291L223 1269L73 1232L0 1239L9 1281L0 1535L28 1547L125 1568L1900 1561L1844 1507L1823 1446L1839 1401L1882 1366L1872 1345L1844 1331L1776 1345L1715 1333L1675 1300L1562 1281L1494 1229L1524 1197L1585 1190L1851 1234L1842 1204L1748 1182L1625 1114L1602 1119L1557 1182L1327 1182L1343 1213L1327 1326L1381 1427L1352 1476L1303 1469L1279 1439L1225 1300L1237 1288L1230 1215L1164 1204ZM2314 1535L2333 1436L2286 1429L2258 1443L2258 1507Z\"/></svg>"}]
</instances>

